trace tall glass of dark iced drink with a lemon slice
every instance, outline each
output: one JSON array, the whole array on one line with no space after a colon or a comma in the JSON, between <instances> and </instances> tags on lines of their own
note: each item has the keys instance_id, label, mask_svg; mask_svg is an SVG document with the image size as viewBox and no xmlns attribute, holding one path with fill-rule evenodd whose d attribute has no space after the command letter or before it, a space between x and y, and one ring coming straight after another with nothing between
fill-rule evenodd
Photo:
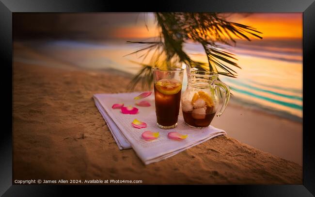
<instances>
[{"instance_id":1,"label":"tall glass of dark iced drink with a lemon slice","mask_svg":"<svg viewBox=\"0 0 315 197\"><path fill-rule=\"evenodd\" d=\"M177 126L183 82L182 68L152 68L157 127L172 129Z\"/></svg>"}]
</instances>

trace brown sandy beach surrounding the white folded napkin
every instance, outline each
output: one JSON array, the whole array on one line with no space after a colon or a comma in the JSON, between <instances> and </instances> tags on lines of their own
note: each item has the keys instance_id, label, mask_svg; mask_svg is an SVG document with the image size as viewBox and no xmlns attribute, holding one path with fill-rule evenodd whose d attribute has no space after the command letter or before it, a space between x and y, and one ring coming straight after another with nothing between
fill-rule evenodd
<instances>
[{"instance_id":1,"label":"brown sandy beach surrounding the white folded napkin","mask_svg":"<svg viewBox=\"0 0 315 197\"><path fill-rule=\"evenodd\" d=\"M299 128L301 124L233 104L214 120L214 126L227 131L227 136L158 163L142 164L132 149L119 150L92 99L95 93L126 92L129 80L113 72L83 70L60 62L54 67L14 62L13 180L302 184L301 165L233 138L274 142L274 137L284 137L285 141L288 136L278 129L296 124Z\"/></svg>"}]
</instances>

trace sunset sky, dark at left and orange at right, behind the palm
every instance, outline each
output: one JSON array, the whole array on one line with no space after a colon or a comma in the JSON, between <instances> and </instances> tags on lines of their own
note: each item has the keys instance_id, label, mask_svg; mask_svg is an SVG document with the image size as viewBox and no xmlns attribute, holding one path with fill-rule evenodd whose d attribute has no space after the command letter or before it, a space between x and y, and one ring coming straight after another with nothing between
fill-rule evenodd
<instances>
[{"instance_id":1,"label":"sunset sky, dark at left and orange at right, behind the palm","mask_svg":"<svg viewBox=\"0 0 315 197\"><path fill-rule=\"evenodd\" d=\"M256 28L268 38L301 38L302 13L228 14L227 20ZM55 34L59 38L145 39L157 35L153 13L14 14L18 36ZM145 26L145 21L148 29Z\"/></svg>"}]
</instances>

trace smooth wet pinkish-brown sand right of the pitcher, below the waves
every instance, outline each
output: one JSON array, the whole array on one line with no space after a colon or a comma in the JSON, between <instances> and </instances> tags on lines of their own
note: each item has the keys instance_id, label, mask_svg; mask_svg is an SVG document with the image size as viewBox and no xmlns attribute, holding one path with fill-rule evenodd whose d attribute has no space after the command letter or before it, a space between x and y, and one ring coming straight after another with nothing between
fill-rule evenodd
<instances>
[{"instance_id":1,"label":"smooth wet pinkish-brown sand right of the pitcher, below the waves","mask_svg":"<svg viewBox=\"0 0 315 197\"><path fill-rule=\"evenodd\" d=\"M254 148L302 165L303 125L277 115L246 108L233 102L212 125Z\"/></svg>"}]
</instances>

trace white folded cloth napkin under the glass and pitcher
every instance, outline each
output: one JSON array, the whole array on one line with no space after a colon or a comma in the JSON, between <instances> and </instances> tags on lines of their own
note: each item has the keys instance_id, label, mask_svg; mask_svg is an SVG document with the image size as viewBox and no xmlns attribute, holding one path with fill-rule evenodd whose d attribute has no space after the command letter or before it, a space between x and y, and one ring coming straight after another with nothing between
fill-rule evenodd
<instances>
[{"instance_id":1,"label":"white folded cloth napkin under the glass and pitcher","mask_svg":"<svg viewBox=\"0 0 315 197\"><path fill-rule=\"evenodd\" d=\"M139 92L120 94L95 94L95 105L107 122L118 147L120 149L133 148L144 164L151 164L171 157L187 148L201 144L218 135L226 134L225 131L209 126L203 129L191 128L185 124L183 115L179 113L177 127L170 130L159 129L156 126L156 114L154 94L143 99L150 102L150 107L136 106L134 98ZM139 100L138 100L139 101ZM120 109L112 109L114 103L124 103L139 109L138 114L122 114ZM147 128L137 129L132 127L131 122L137 118L145 122ZM159 137L152 141L145 141L141 134L144 131L159 132ZM188 134L184 140L172 140L167 137L169 132Z\"/></svg>"}]
</instances>

